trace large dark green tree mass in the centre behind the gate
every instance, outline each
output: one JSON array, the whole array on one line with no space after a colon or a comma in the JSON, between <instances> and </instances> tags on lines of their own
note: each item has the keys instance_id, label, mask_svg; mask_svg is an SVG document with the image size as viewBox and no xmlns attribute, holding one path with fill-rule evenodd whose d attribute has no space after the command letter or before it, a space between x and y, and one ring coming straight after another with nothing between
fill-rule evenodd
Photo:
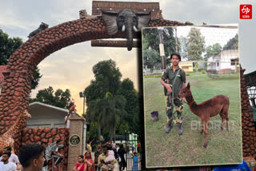
<instances>
[{"instance_id":1,"label":"large dark green tree mass in the centre behind the gate","mask_svg":"<svg viewBox=\"0 0 256 171\"><path fill-rule=\"evenodd\" d=\"M114 136L124 123L138 133L139 102L134 83L122 74L112 60L93 67L95 80L86 87L86 119L98 122L98 135ZM128 131L128 129L127 129Z\"/></svg>"}]
</instances>

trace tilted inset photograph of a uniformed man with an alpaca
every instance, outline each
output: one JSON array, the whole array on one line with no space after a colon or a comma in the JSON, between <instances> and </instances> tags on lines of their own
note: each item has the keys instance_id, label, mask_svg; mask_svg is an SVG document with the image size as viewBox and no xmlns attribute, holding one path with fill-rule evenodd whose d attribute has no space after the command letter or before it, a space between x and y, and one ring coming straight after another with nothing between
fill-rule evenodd
<instances>
[{"instance_id":1,"label":"tilted inset photograph of a uniformed man with an alpaca","mask_svg":"<svg viewBox=\"0 0 256 171\"><path fill-rule=\"evenodd\" d=\"M142 30L146 167L242 163L238 26Z\"/></svg>"}]
</instances>

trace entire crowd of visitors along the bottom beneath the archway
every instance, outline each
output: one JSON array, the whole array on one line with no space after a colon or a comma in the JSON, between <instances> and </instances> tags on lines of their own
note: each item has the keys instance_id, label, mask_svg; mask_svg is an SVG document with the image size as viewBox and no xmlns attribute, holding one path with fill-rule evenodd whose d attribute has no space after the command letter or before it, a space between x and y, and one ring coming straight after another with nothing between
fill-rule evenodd
<instances>
[{"instance_id":1,"label":"entire crowd of visitors along the bottom beneath the archway","mask_svg":"<svg viewBox=\"0 0 256 171\"><path fill-rule=\"evenodd\" d=\"M91 155L91 142L86 146L86 153L78 156L78 161L73 167L73 171L124 171L127 167L126 149L121 143L116 145L115 142L107 142L104 145L97 145L94 153L94 159ZM42 142L41 145L29 144L23 145L19 150L18 156L14 153L14 149L7 146L0 151L0 171L47 171L48 162L54 158L54 169L58 170L58 165L64 158L59 149L63 149L64 145L61 140L54 141L47 145ZM138 170L138 153L133 153L132 170Z\"/></svg>"}]
</instances>

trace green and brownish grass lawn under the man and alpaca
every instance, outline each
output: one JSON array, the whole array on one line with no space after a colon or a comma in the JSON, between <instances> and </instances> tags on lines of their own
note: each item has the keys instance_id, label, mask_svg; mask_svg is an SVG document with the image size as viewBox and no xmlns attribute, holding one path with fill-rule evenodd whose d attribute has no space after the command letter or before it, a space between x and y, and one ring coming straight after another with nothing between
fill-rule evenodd
<instances>
[{"instance_id":1,"label":"green and brownish grass lawn under the man and alpaca","mask_svg":"<svg viewBox=\"0 0 256 171\"><path fill-rule=\"evenodd\" d=\"M221 131L217 126L221 117L211 117L208 147L203 149L204 135L199 133L199 117L184 104L183 134L178 136L178 125L165 133L166 97L160 84L161 78L144 78L144 116L146 128L146 166L177 165L222 165L242 161L242 128L240 115L240 81L232 78L209 78L201 73L190 74L194 100L199 104L218 94L230 97L230 131ZM153 122L152 111L159 112L159 121ZM194 128L194 129L192 129Z\"/></svg>"}]
</instances>

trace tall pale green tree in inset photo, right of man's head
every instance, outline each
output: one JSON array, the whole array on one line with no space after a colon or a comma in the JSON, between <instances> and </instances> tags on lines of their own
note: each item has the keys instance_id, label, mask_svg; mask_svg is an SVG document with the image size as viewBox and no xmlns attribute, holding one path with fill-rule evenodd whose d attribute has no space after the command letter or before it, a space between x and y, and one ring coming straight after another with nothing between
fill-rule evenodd
<instances>
[{"instance_id":1,"label":"tall pale green tree in inset photo, right of man's head","mask_svg":"<svg viewBox=\"0 0 256 171\"><path fill-rule=\"evenodd\" d=\"M202 36L199 29L191 28L188 34L188 54L189 60L202 60L202 53L205 51L205 37Z\"/></svg>"}]
</instances>

